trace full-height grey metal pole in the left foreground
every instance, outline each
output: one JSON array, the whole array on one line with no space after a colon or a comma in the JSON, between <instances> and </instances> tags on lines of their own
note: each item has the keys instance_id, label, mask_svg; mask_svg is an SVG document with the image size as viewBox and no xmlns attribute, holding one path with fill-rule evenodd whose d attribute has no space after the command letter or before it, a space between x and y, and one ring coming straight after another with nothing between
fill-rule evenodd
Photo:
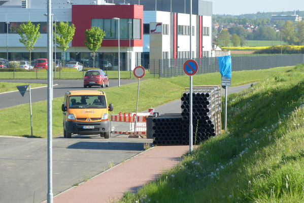
<instances>
[{"instance_id":1,"label":"full-height grey metal pole in the left foreground","mask_svg":"<svg viewBox=\"0 0 304 203\"><path fill-rule=\"evenodd\" d=\"M53 203L53 156L52 156L52 70L53 70L53 57L52 57L52 26L51 26L51 1L47 0L47 24L48 24L48 90L47 90L47 122L48 122L48 193L47 202Z\"/></svg>"}]
</instances>

